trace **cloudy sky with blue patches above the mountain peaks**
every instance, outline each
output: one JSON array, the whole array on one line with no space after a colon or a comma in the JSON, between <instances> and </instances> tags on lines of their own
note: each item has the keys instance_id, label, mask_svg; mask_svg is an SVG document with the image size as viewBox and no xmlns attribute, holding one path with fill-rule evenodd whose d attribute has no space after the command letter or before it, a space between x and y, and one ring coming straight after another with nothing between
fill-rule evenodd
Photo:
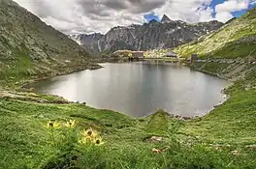
<instances>
[{"instance_id":1,"label":"cloudy sky with blue patches above the mountain peaks","mask_svg":"<svg viewBox=\"0 0 256 169\"><path fill-rule=\"evenodd\" d=\"M256 0L14 0L65 34L106 34L114 26L161 20L226 22L256 7Z\"/></svg>"}]
</instances>

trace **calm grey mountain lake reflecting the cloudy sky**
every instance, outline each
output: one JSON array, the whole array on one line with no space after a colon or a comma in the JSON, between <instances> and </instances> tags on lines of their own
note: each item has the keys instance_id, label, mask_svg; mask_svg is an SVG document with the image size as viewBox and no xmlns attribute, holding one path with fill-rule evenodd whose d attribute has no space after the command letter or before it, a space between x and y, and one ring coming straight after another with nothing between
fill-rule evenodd
<instances>
[{"instance_id":1,"label":"calm grey mountain lake reflecting the cloudy sky","mask_svg":"<svg viewBox=\"0 0 256 169\"><path fill-rule=\"evenodd\" d=\"M180 64L102 64L32 84L35 92L53 94L96 108L144 117L156 109L181 116L203 116L225 100L230 82Z\"/></svg>"}]
</instances>

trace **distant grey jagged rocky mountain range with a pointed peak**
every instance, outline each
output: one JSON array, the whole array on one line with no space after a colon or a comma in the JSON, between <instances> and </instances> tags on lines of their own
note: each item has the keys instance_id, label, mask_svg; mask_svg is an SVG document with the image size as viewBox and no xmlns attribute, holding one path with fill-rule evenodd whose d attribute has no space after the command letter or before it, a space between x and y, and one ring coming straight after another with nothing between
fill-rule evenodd
<instances>
[{"instance_id":1,"label":"distant grey jagged rocky mountain range with a pointed peak","mask_svg":"<svg viewBox=\"0 0 256 169\"><path fill-rule=\"evenodd\" d=\"M164 15L161 22L151 20L144 25L113 27L106 35L94 39L93 45L82 42L86 49L98 52L113 52L121 49L150 50L176 47L184 42L192 42L202 35L220 28L223 23L216 20L189 24L171 20ZM100 39L98 39L100 38ZM96 45L97 44L97 45Z\"/></svg>"}]
</instances>

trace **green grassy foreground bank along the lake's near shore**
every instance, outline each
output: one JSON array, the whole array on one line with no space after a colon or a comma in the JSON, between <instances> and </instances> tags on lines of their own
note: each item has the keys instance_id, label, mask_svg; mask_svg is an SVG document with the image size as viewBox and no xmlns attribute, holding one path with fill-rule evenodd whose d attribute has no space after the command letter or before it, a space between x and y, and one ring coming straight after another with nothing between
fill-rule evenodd
<instances>
[{"instance_id":1,"label":"green grassy foreground bank along the lake's near shore","mask_svg":"<svg viewBox=\"0 0 256 169\"><path fill-rule=\"evenodd\" d=\"M248 74L227 90L224 104L191 121L161 110L132 119L53 96L1 92L0 168L253 169L255 81L255 73ZM63 125L70 120L75 127ZM48 127L49 121L60 126ZM80 142L88 128L103 144Z\"/></svg>"}]
</instances>

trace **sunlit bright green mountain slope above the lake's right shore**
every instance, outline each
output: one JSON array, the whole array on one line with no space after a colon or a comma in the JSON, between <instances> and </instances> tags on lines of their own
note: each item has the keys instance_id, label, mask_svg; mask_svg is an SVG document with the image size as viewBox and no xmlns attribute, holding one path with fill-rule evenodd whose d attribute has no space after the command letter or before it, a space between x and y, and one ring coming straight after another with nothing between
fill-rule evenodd
<instances>
[{"instance_id":1,"label":"sunlit bright green mountain slope above the lake's right shore","mask_svg":"<svg viewBox=\"0 0 256 169\"><path fill-rule=\"evenodd\" d=\"M176 47L181 57L197 53L206 58L256 59L256 8L228 21L216 32Z\"/></svg>"}]
</instances>

